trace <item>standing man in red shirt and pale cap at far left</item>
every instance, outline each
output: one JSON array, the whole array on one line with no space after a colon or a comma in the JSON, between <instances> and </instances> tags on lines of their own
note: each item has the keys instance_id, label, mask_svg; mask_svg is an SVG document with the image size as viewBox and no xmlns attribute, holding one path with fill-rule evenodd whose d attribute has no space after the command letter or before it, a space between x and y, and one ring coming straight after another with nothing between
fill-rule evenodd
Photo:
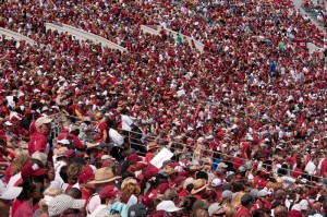
<instances>
[{"instance_id":1,"label":"standing man in red shirt and pale cap at far left","mask_svg":"<svg viewBox=\"0 0 327 217\"><path fill-rule=\"evenodd\" d=\"M35 121L36 132L32 135L28 143L28 154L32 156L35 152L41 152L48 155L50 153L50 144L47 136L51 132L52 119L49 117L41 117ZM51 159L51 158L49 158Z\"/></svg>"}]
</instances>

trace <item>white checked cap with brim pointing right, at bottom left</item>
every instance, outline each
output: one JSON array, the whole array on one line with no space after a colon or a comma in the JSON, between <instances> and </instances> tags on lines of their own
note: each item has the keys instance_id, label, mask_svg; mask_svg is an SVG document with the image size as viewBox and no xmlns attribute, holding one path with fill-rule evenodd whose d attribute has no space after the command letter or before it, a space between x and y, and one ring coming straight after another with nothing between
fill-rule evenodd
<instances>
[{"instance_id":1,"label":"white checked cap with brim pointing right, at bottom left","mask_svg":"<svg viewBox=\"0 0 327 217\"><path fill-rule=\"evenodd\" d=\"M74 200L66 194L57 195L49 203L49 216L60 215L69 208L80 209L84 204L85 200Z\"/></svg>"}]
</instances>

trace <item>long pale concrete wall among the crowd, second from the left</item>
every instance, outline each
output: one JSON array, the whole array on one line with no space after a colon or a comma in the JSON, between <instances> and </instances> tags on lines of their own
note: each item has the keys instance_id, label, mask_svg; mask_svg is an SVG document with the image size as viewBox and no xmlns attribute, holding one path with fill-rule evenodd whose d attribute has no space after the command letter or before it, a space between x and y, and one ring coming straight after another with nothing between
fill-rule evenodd
<instances>
[{"instance_id":1,"label":"long pale concrete wall among the crowd, second from the left","mask_svg":"<svg viewBox=\"0 0 327 217\"><path fill-rule=\"evenodd\" d=\"M46 29L57 31L58 33L68 33L69 35L74 36L77 40L90 40L95 44L101 44L102 47L120 50L121 52L126 51L126 48L123 48L106 38L70 25L61 23L46 23Z\"/></svg>"}]
</instances>

